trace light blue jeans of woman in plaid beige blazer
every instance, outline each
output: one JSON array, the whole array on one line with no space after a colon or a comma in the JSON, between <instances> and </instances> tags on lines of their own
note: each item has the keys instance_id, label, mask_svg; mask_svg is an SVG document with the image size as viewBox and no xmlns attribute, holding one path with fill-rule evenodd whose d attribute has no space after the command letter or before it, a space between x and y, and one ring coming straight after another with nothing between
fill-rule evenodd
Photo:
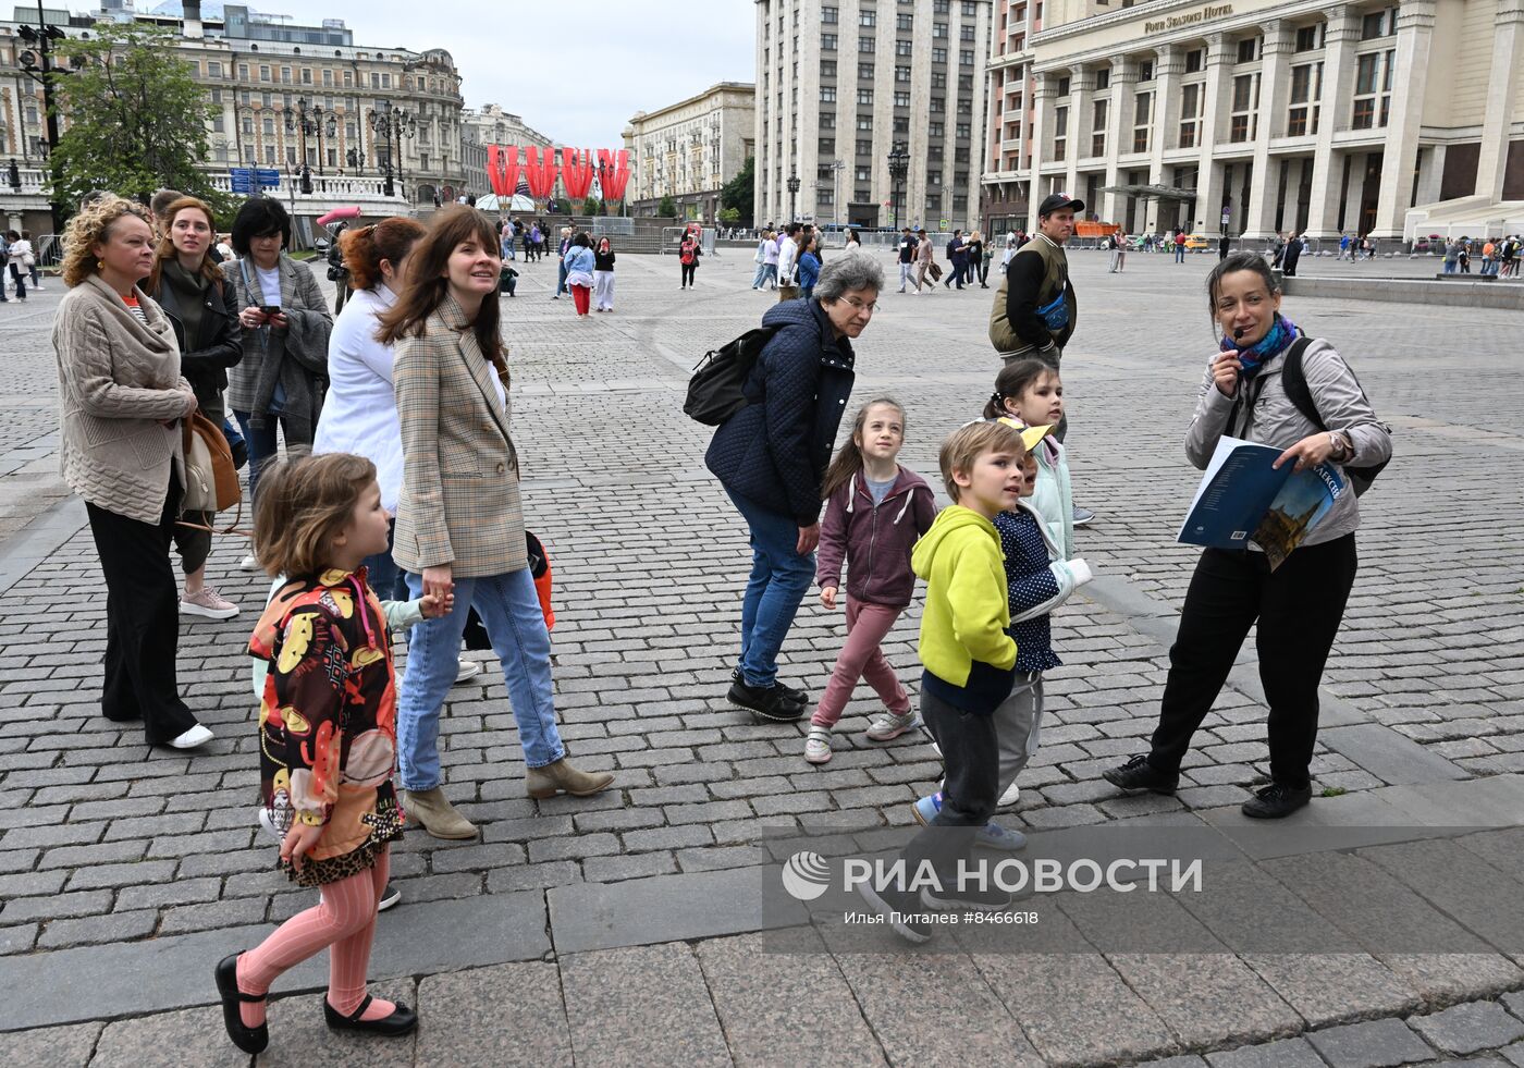
<instances>
[{"instance_id":1,"label":"light blue jeans of woman in plaid beige blazer","mask_svg":"<svg viewBox=\"0 0 1524 1068\"><path fill-rule=\"evenodd\" d=\"M424 579L407 576L413 597L424 596ZM456 579L456 606L448 616L424 620L407 643L407 670L396 704L396 751L402 789L439 786L439 710L456 681L460 635L475 608L492 635L492 651L503 663L507 699L518 724L524 765L543 768L565 756L556 730L550 681L550 632L535 594L529 568L485 579Z\"/></svg>"}]
</instances>

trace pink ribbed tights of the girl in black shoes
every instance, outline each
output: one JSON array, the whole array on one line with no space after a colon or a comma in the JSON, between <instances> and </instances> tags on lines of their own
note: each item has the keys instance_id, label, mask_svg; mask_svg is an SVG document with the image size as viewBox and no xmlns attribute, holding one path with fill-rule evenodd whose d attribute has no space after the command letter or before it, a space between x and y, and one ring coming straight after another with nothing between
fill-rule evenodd
<instances>
[{"instance_id":1,"label":"pink ribbed tights of the girl in black shoes","mask_svg":"<svg viewBox=\"0 0 1524 1068\"><path fill-rule=\"evenodd\" d=\"M283 970L323 951L328 954L328 1004L344 1016L366 999L366 967L376 932L376 903L392 868L390 847L376 865L323 885L323 900L276 928L238 958L238 986L265 993Z\"/></svg>"}]
</instances>

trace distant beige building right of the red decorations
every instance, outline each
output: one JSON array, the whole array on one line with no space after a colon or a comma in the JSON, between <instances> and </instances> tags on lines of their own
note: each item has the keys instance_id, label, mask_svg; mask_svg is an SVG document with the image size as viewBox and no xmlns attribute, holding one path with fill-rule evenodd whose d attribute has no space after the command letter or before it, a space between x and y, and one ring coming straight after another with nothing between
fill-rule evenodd
<instances>
[{"instance_id":1,"label":"distant beige building right of the red decorations","mask_svg":"<svg viewBox=\"0 0 1524 1068\"><path fill-rule=\"evenodd\" d=\"M751 84L719 82L657 111L637 111L625 126L625 197L634 213L655 215L671 197L680 218L713 224L719 190L756 151L754 99Z\"/></svg>"}]
</instances>

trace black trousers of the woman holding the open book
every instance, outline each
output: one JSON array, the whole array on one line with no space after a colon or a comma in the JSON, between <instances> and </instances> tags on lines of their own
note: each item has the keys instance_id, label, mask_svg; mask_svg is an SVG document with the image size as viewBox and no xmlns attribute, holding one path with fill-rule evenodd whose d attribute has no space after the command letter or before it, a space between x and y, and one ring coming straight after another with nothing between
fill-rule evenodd
<instances>
[{"instance_id":1,"label":"black trousers of the woman holding the open book","mask_svg":"<svg viewBox=\"0 0 1524 1068\"><path fill-rule=\"evenodd\" d=\"M1285 786L1306 788L1318 736L1318 684L1358 562L1352 533L1303 545L1276 571L1263 553L1205 550L1169 651L1149 763L1164 772L1180 769L1190 736L1212 710L1248 628L1257 622L1254 648L1269 704L1269 774Z\"/></svg>"}]
</instances>

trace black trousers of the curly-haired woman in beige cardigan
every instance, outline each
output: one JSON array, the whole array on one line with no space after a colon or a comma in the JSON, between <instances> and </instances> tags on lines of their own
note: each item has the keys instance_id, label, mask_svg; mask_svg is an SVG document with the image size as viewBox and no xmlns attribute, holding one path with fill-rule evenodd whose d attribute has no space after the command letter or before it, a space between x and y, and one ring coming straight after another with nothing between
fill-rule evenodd
<instances>
[{"instance_id":1,"label":"black trousers of the curly-haired woman in beige cardigan","mask_svg":"<svg viewBox=\"0 0 1524 1068\"><path fill-rule=\"evenodd\" d=\"M149 745L168 742L197 724L175 683L180 590L169 564L169 542L178 497L178 483L171 475L157 524L85 503L105 571L101 711L117 722L142 719Z\"/></svg>"}]
</instances>

